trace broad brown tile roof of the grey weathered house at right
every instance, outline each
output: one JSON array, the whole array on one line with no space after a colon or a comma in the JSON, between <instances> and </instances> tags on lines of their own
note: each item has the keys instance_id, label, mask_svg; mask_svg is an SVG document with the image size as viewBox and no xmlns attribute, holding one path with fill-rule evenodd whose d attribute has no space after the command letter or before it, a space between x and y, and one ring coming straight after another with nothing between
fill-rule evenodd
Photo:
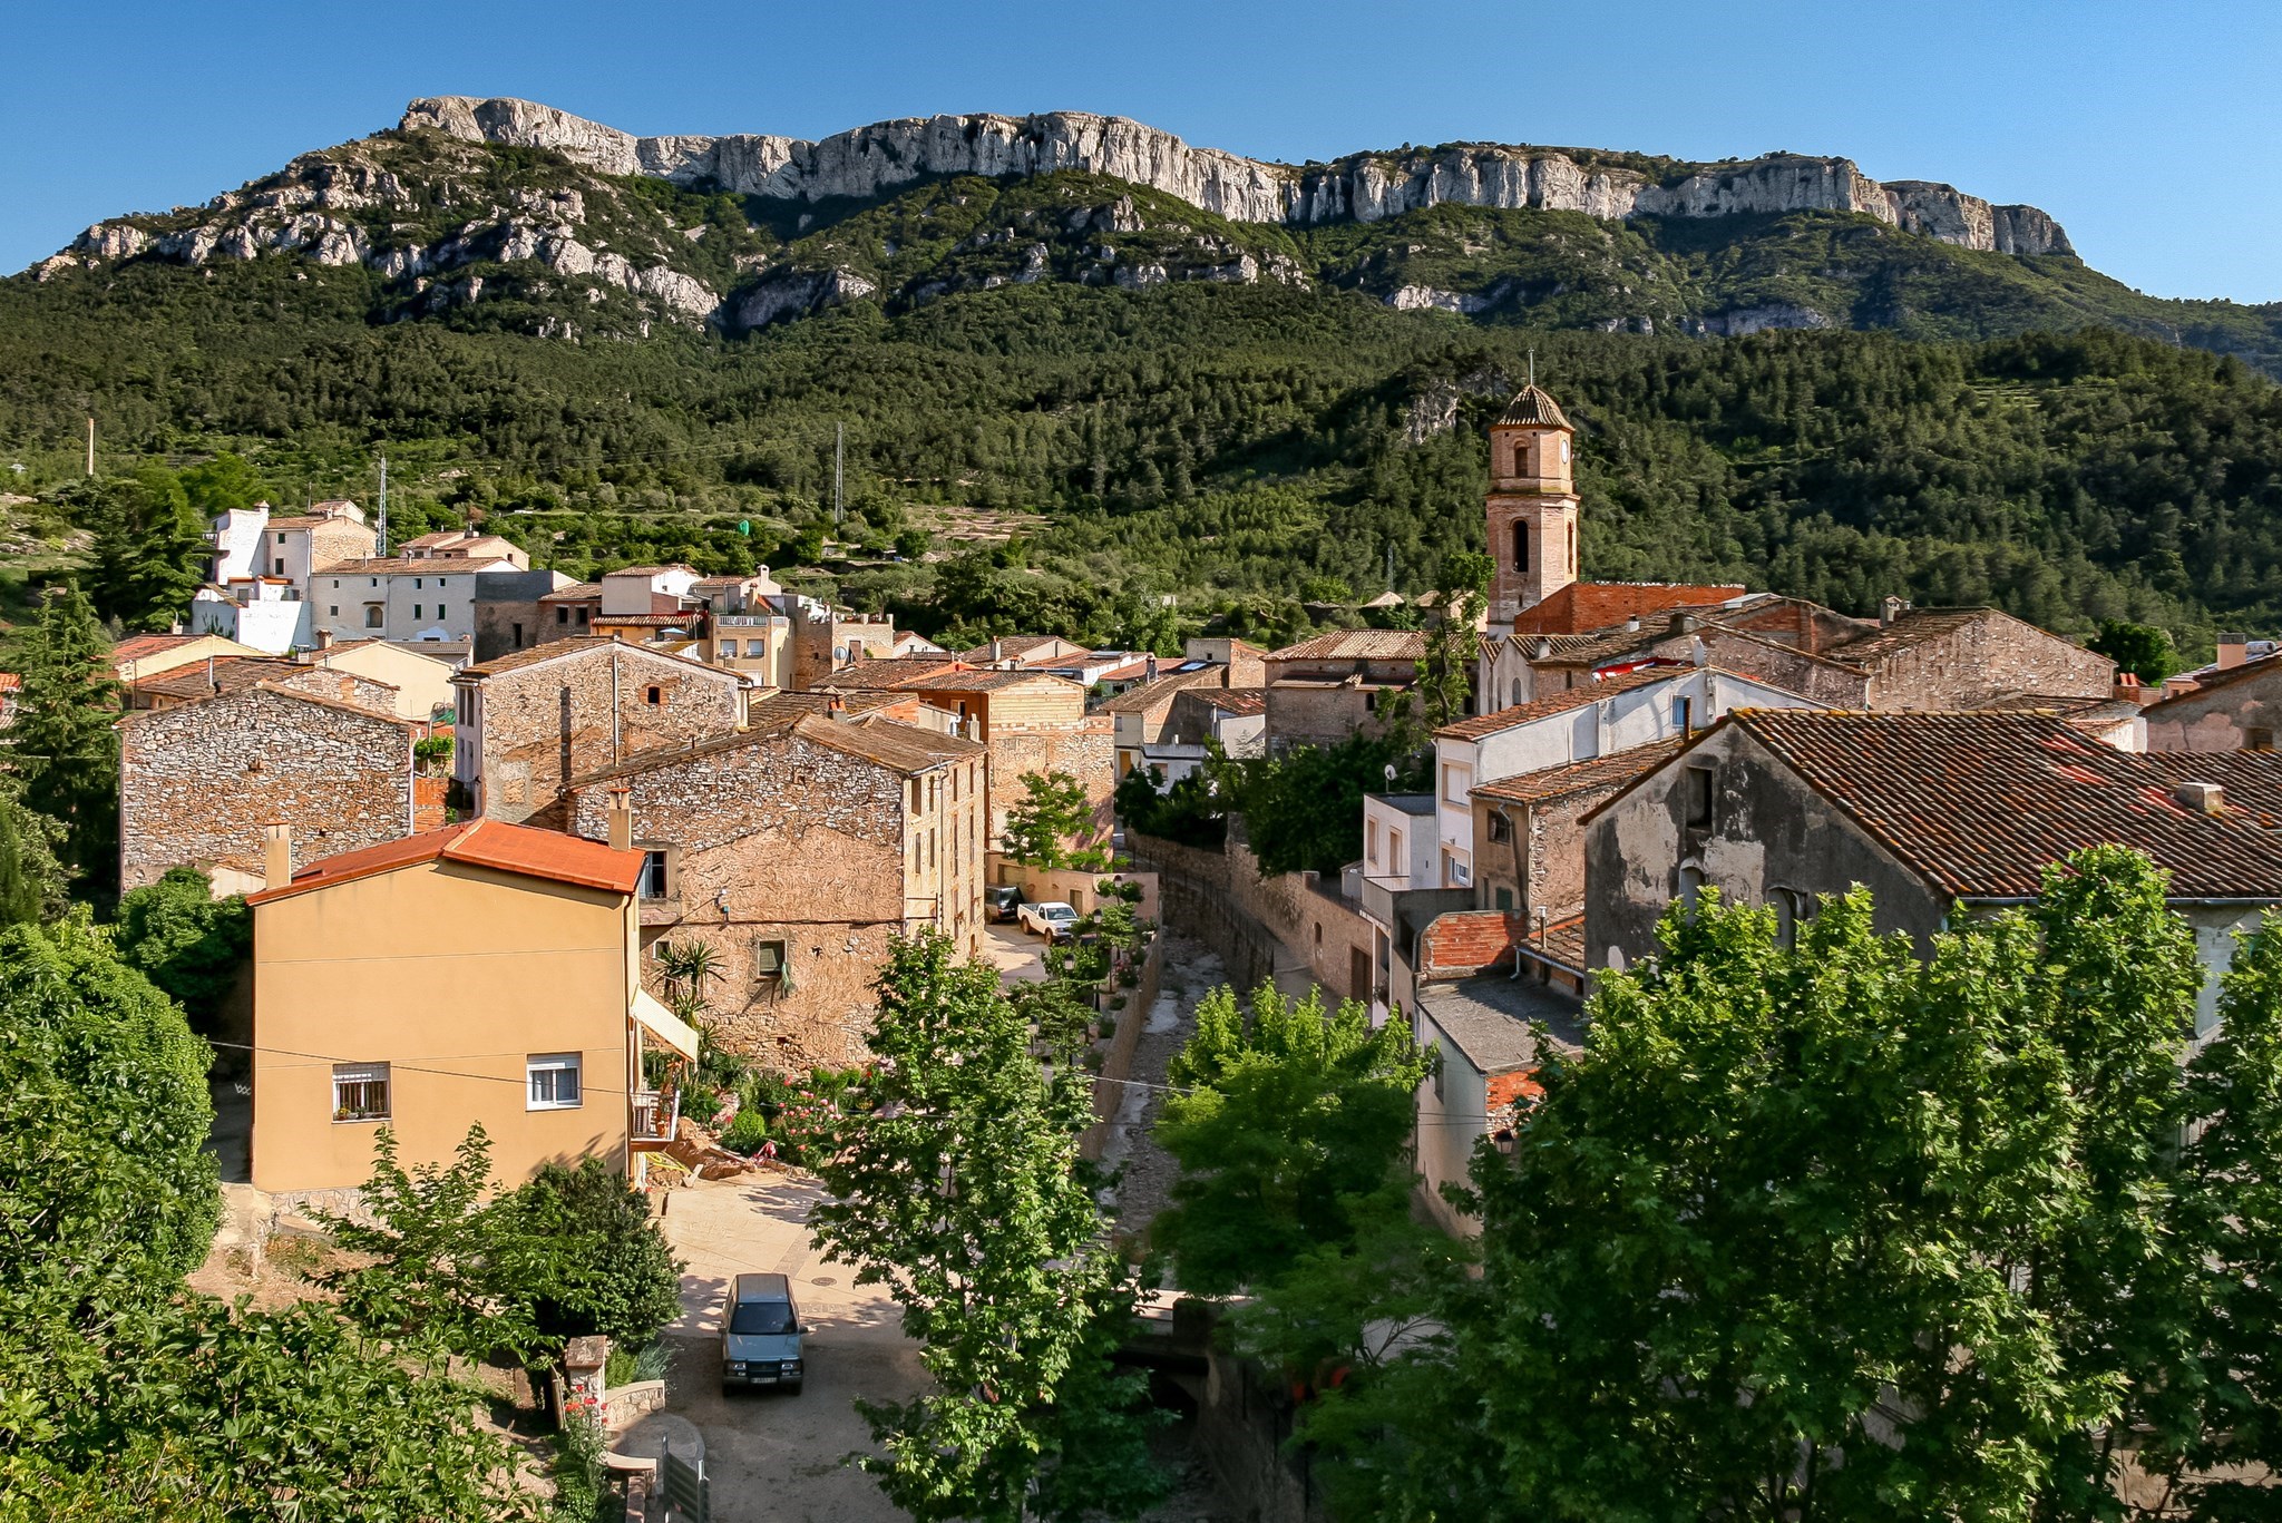
<instances>
[{"instance_id":1,"label":"broad brown tile roof of the grey weathered house at right","mask_svg":"<svg viewBox=\"0 0 2282 1523\"><path fill-rule=\"evenodd\" d=\"M2166 765L2052 715L1741 708L1730 724L1956 897L2033 897L2045 865L2115 843L2177 897L2282 900L2282 840L2186 808Z\"/></svg>"}]
</instances>

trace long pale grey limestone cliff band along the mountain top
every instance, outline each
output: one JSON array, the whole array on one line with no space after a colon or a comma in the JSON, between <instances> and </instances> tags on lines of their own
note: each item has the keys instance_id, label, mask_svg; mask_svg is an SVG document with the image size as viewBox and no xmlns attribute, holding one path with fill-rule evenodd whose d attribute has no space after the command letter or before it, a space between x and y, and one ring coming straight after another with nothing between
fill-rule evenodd
<instances>
[{"instance_id":1,"label":"long pale grey limestone cliff band along the mountain top","mask_svg":"<svg viewBox=\"0 0 2282 1523\"><path fill-rule=\"evenodd\" d=\"M1442 203L1570 210L1600 219L1823 210L1860 212L1963 249L2074 253L2061 224L2033 206L1992 206L1931 180L1878 183L1853 160L1796 153L1675 164L1563 148L1451 144L1294 167L1193 148L1146 123L1091 112L911 116L803 142L771 135L634 137L534 100L470 96L413 100L402 128L548 148L605 174L717 185L776 201L869 199L954 174L1000 178L1082 169L1159 190L1230 221L1378 221Z\"/></svg>"}]
</instances>

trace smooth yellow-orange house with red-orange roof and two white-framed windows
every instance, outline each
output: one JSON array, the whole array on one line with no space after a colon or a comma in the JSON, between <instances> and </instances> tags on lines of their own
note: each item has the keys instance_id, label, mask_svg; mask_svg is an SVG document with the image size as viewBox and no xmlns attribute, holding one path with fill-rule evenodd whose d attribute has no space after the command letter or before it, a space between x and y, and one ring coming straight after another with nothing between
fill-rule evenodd
<instances>
[{"instance_id":1,"label":"smooth yellow-orange house with red-orange roof and two white-framed windows","mask_svg":"<svg viewBox=\"0 0 2282 1523\"><path fill-rule=\"evenodd\" d=\"M272 840L253 909L253 1185L347 1206L388 1126L408 1167L482 1121L518 1185L602 1160L641 1178L671 1114L644 1048L696 1032L634 977L641 859L472 820L288 870Z\"/></svg>"}]
</instances>

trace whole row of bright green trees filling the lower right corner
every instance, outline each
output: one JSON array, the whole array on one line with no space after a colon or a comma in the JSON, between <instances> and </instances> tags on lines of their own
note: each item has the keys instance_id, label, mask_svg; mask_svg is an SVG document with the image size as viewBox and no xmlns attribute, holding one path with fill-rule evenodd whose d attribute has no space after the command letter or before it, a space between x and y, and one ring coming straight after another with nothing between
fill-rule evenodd
<instances>
[{"instance_id":1,"label":"whole row of bright green trees filling the lower right corner","mask_svg":"<svg viewBox=\"0 0 2282 1523\"><path fill-rule=\"evenodd\" d=\"M1403 1210L1399 1025L1200 1009L1159 1244L1248 1292L1340 1516L2275 1516L2282 925L2216 1030L2118 847L1928 948L1862 891L1661 938L1540 1046L1465 1249Z\"/></svg>"}]
</instances>

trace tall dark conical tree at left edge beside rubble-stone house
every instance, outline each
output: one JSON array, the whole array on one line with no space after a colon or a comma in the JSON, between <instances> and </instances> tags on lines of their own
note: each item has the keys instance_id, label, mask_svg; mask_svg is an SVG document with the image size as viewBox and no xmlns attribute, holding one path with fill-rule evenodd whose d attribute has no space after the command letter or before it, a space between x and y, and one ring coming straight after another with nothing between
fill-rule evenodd
<instances>
[{"instance_id":1,"label":"tall dark conical tree at left edge beside rubble-stone house","mask_svg":"<svg viewBox=\"0 0 2282 1523\"><path fill-rule=\"evenodd\" d=\"M62 829L57 856L98 895L119 881L119 683L78 587L50 591L23 651L7 758L23 804Z\"/></svg>"}]
</instances>

